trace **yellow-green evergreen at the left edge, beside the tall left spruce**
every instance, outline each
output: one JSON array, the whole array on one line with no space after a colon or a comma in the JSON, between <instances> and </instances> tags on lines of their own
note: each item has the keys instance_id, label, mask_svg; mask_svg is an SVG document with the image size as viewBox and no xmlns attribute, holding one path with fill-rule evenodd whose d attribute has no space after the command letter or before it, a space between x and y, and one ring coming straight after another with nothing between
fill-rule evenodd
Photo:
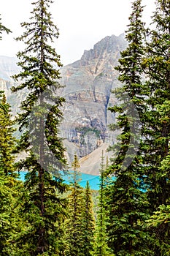
<instances>
[{"instance_id":1,"label":"yellow-green evergreen at the left edge, beside the tall left spruce","mask_svg":"<svg viewBox=\"0 0 170 256\"><path fill-rule=\"evenodd\" d=\"M0 255L12 255L12 238L17 230L15 216L15 201L18 195L18 185L15 178L15 143L13 137L15 129L12 127L10 106L4 94L0 99Z\"/></svg>"}]
</instances>

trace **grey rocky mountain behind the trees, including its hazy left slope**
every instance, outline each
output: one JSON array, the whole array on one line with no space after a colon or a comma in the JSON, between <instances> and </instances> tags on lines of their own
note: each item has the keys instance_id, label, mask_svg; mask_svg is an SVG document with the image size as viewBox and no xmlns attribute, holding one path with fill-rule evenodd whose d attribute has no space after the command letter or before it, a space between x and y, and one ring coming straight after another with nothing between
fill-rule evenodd
<instances>
[{"instance_id":1,"label":"grey rocky mountain behind the trees, including its hazy left slope","mask_svg":"<svg viewBox=\"0 0 170 256\"><path fill-rule=\"evenodd\" d=\"M93 49L85 50L80 60L61 69L60 83L65 87L60 94L66 98L61 136L65 138L69 162L77 154L85 173L98 174L102 150L115 143L116 134L108 129L115 115L108 108L116 103L111 94L119 86L114 67L126 46L123 34L105 37ZM18 110L15 102L25 97L10 92L14 84L10 76L18 71L16 59L0 56L0 89L7 94L14 113ZM88 161L91 164L86 165Z\"/></svg>"}]
</instances>

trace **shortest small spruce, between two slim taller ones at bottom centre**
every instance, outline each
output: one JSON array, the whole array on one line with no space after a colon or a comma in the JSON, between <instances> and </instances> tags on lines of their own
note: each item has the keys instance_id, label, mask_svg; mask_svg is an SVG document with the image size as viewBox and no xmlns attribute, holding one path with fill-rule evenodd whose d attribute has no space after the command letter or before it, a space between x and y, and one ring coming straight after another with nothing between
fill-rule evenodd
<instances>
[{"instance_id":1,"label":"shortest small spruce, between two slim taller ones at bottom centre","mask_svg":"<svg viewBox=\"0 0 170 256\"><path fill-rule=\"evenodd\" d=\"M94 217L93 217L93 203L90 191L89 182L87 181L84 192L84 211L82 212L82 231L83 231L83 255L90 256L93 249L94 238Z\"/></svg>"}]
</instances>

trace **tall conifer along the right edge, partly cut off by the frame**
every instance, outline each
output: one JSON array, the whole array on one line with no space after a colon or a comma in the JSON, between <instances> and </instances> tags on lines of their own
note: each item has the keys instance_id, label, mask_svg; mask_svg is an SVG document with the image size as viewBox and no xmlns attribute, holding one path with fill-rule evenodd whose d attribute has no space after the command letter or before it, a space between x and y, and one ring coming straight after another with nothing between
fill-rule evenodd
<instances>
[{"instance_id":1,"label":"tall conifer along the right edge, partly cut off by the frame","mask_svg":"<svg viewBox=\"0 0 170 256\"><path fill-rule=\"evenodd\" d=\"M143 61L150 92L146 100L149 106L145 114L144 165L145 183L151 213L170 197L169 169L161 168L163 159L169 154L169 102L170 102L170 1L157 0L152 16L154 30L150 31L147 57Z\"/></svg>"}]
</instances>

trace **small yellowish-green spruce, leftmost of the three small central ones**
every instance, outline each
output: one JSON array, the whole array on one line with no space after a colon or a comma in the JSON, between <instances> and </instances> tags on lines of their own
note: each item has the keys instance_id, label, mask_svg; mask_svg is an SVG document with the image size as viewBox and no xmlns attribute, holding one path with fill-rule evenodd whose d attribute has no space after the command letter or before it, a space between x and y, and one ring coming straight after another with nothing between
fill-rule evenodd
<instances>
[{"instance_id":1,"label":"small yellowish-green spruce, leftmost of the three small central ones","mask_svg":"<svg viewBox=\"0 0 170 256\"><path fill-rule=\"evenodd\" d=\"M72 163L73 181L71 182L71 194L69 195L68 219L66 220L67 256L84 256L84 237L82 214L84 211L83 189L80 187L80 164L77 155L74 155ZM87 237L88 238L88 237Z\"/></svg>"}]
</instances>

